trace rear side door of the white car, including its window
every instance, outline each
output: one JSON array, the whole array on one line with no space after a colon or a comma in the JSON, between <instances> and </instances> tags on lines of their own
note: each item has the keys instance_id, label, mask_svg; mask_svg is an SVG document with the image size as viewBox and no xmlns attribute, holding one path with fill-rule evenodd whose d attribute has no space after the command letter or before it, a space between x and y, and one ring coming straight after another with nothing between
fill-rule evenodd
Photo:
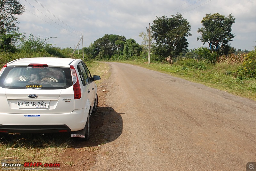
<instances>
[{"instance_id":1,"label":"rear side door of the white car, including its window","mask_svg":"<svg viewBox=\"0 0 256 171\"><path fill-rule=\"evenodd\" d=\"M87 100L90 101L90 106L91 109L93 108L94 105L94 94L92 91L93 88L93 84L92 81L90 79L90 77L88 77L87 73L86 73L86 69L85 69L85 64L83 62L80 62L77 66L81 81L82 81L82 85L83 85L83 92L84 92L84 96L82 97L82 99L84 99L84 101L86 102Z\"/></svg>"}]
</instances>

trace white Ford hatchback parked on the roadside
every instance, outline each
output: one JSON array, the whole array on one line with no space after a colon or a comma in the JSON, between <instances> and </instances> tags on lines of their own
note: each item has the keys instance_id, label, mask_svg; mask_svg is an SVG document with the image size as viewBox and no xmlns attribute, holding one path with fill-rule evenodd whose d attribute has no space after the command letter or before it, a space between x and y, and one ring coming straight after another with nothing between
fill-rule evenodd
<instances>
[{"instance_id":1,"label":"white Ford hatchback parked on the roadside","mask_svg":"<svg viewBox=\"0 0 256 171\"><path fill-rule=\"evenodd\" d=\"M70 58L21 58L0 71L0 132L71 132L89 139L97 86L85 63Z\"/></svg>"}]
</instances>

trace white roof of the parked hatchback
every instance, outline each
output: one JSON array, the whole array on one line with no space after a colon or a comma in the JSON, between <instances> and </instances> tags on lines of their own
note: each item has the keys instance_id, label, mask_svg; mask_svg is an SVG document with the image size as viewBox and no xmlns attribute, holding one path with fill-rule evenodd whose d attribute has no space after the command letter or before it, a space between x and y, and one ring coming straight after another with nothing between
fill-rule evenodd
<instances>
[{"instance_id":1,"label":"white roof of the parked hatchback","mask_svg":"<svg viewBox=\"0 0 256 171\"><path fill-rule=\"evenodd\" d=\"M20 58L16 59L7 66L28 66L30 63L47 64L48 66L54 67L70 67L69 65L74 61L82 61L81 59L72 58L58 58L58 57L35 57L35 58Z\"/></svg>"}]
</instances>

